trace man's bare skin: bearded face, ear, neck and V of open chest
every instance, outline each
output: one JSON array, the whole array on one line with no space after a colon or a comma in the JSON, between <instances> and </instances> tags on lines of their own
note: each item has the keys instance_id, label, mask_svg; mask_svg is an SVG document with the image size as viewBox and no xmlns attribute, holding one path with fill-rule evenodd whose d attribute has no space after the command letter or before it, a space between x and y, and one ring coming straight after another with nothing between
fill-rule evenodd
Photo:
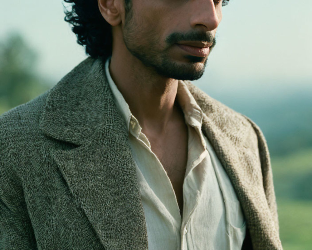
<instances>
[{"instance_id":1,"label":"man's bare skin: bearded face, ear, neck and V of open chest","mask_svg":"<svg viewBox=\"0 0 312 250\"><path fill-rule=\"evenodd\" d=\"M222 3L212 0L98 0L112 26L110 75L139 121L183 212L188 127L178 81L198 79L215 46Z\"/></svg>"}]
</instances>

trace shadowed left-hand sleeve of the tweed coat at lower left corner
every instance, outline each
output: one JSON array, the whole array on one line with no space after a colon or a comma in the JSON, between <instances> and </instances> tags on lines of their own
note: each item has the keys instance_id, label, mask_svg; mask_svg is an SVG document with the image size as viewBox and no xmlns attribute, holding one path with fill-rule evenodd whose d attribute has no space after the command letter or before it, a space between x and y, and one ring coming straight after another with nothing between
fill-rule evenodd
<instances>
[{"instance_id":1,"label":"shadowed left-hand sleeve of the tweed coat at lower left corner","mask_svg":"<svg viewBox=\"0 0 312 250\"><path fill-rule=\"evenodd\" d=\"M11 146L4 143L1 130L0 127L0 249L37 249L22 185L12 166Z\"/></svg>"}]
</instances>

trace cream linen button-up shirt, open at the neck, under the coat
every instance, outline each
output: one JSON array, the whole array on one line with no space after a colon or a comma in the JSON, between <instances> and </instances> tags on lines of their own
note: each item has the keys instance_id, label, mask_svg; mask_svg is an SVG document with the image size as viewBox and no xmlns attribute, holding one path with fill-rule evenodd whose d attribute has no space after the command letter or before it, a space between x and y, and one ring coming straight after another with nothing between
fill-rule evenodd
<instances>
[{"instance_id":1,"label":"cream linen button-up shirt, open at the neck, under the coat","mask_svg":"<svg viewBox=\"0 0 312 250\"><path fill-rule=\"evenodd\" d=\"M129 131L144 208L149 250L239 250L246 222L232 184L203 135L203 113L183 81L177 98L188 127L183 216L168 175L141 132L138 120L105 70L115 103Z\"/></svg>"}]
</instances>

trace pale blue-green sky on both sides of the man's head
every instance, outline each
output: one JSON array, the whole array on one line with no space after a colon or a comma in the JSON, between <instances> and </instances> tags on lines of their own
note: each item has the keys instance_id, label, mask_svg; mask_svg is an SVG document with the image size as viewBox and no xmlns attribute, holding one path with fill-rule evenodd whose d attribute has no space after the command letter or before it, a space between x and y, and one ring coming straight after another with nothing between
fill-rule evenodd
<instances>
[{"instance_id":1,"label":"pale blue-green sky on both sides of the man's head","mask_svg":"<svg viewBox=\"0 0 312 250\"><path fill-rule=\"evenodd\" d=\"M311 0L230 0L197 85L205 90L312 85L311 13ZM63 18L61 0L2 1L0 40L20 32L39 52L39 73L57 83L86 57Z\"/></svg>"}]
</instances>

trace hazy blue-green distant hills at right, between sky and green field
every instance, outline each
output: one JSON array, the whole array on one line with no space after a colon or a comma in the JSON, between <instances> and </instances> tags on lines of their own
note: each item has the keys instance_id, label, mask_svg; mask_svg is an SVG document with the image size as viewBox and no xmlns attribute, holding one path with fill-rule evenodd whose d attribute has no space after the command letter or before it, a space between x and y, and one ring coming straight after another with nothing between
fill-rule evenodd
<instances>
[{"instance_id":1,"label":"hazy blue-green distant hills at right, between sky and green field","mask_svg":"<svg viewBox=\"0 0 312 250\"><path fill-rule=\"evenodd\" d=\"M284 82L280 80L280 82ZM272 156L288 155L312 148L312 84L296 81L276 87L277 83L263 81L269 88L256 86L220 89L216 84L202 85L213 98L251 118L264 133ZM312 249L312 248L311 248Z\"/></svg>"}]
</instances>

